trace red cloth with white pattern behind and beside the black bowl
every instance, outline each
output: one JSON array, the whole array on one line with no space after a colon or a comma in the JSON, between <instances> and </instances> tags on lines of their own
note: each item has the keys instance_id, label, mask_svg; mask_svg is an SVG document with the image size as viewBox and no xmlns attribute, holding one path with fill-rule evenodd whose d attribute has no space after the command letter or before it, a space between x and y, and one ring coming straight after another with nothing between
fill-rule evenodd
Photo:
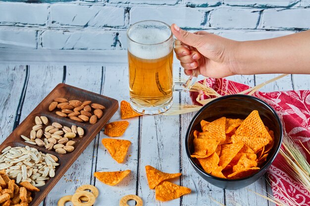
<instances>
[{"instance_id":1,"label":"red cloth with white pattern behind and beside the black bowl","mask_svg":"<svg viewBox=\"0 0 310 206\"><path fill-rule=\"evenodd\" d=\"M206 84L212 87L220 95L237 94L250 86L226 79L209 78ZM190 96L195 104L198 92L190 92ZM283 124L283 132L286 132L291 139L299 146L300 142L310 141L310 90L300 91L275 91L260 92L253 94L267 102L279 115ZM202 95L201 99L209 98ZM305 144L304 144L305 145ZM306 144L307 145L307 144ZM301 147L301 151L306 155L309 162L310 156ZM297 182L285 169L286 162L281 155L278 155L269 168L267 175L271 180L271 187L275 198L283 201L287 205L290 201L286 194L293 198L295 205L309 206L310 193L299 182ZM286 167L287 168L287 167Z\"/></svg>"}]
</instances>

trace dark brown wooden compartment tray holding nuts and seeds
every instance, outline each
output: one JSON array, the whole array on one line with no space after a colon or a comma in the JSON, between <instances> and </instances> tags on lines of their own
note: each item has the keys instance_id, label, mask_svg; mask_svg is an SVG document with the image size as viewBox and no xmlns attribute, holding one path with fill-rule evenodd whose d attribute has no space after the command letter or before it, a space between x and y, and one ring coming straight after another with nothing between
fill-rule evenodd
<instances>
[{"instance_id":1,"label":"dark brown wooden compartment tray holding nuts and seeds","mask_svg":"<svg viewBox=\"0 0 310 206\"><path fill-rule=\"evenodd\" d=\"M55 114L55 111L49 111L49 105L53 102L56 97L63 97L68 100L77 99L80 101L91 100L92 103L102 104L105 109L103 110L103 117L98 119L96 124L89 123L79 123L68 118L62 118ZM53 186L59 181L59 179L64 175L64 173L69 169L69 167L74 163L74 161L81 155L85 148L91 143L107 121L113 116L113 114L118 109L118 101L100 94L96 94L90 91L86 91L74 86L70 86L64 83L58 84L47 97L45 97L42 102L25 118L25 120L19 124L19 126L14 129L14 131L4 140L0 145L0 151L5 147L34 147L41 151L42 153L49 153L56 156L59 161L59 165L55 168L55 176L46 181L46 185L39 187L40 192L33 193L33 201L29 206L38 206L43 199L52 190ZM49 119L49 125L53 122L57 122L63 126L68 126L75 124L84 129L83 137L75 137L74 140L76 144L74 145L74 150L67 154L58 154L53 150L49 151L45 147L39 147L37 145L32 145L24 142L20 135L29 136L32 127L35 125L36 116L46 116ZM44 138L44 137L42 137Z\"/></svg>"}]
</instances>

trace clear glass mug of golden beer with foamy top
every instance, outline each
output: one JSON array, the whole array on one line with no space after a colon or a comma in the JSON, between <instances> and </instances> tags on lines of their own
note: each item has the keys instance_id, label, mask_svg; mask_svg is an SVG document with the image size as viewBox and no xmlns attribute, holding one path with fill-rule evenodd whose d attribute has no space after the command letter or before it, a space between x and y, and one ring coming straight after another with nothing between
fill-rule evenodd
<instances>
[{"instance_id":1,"label":"clear glass mug of golden beer with foamy top","mask_svg":"<svg viewBox=\"0 0 310 206\"><path fill-rule=\"evenodd\" d=\"M173 103L172 92L186 91L196 82L191 76L185 83L173 84L172 37L169 25L154 20L137 22L127 30L130 100L138 113L167 111Z\"/></svg>"}]
</instances>

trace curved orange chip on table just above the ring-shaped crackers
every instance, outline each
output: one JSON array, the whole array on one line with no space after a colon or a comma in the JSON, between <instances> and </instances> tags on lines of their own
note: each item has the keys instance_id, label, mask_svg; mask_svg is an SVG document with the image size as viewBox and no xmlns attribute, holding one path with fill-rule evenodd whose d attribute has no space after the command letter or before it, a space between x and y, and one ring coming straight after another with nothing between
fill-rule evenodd
<instances>
[{"instance_id":1,"label":"curved orange chip on table just above the ring-shaped crackers","mask_svg":"<svg viewBox=\"0 0 310 206\"><path fill-rule=\"evenodd\" d=\"M113 172L95 172L94 176L107 185L116 185L122 181L128 174L130 170L125 171L113 171Z\"/></svg>"}]
</instances>

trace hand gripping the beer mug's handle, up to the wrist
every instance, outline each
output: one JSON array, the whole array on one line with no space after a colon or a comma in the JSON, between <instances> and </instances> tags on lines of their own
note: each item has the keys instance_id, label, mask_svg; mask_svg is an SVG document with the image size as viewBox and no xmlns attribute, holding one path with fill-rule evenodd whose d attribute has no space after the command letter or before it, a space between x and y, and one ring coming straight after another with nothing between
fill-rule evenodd
<instances>
[{"instance_id":1,"label":"hand gripping the beer mug's handle, up to the wrist","mask_svg":"<svg viewBox=\"0 0 310 206\"><path fill-rule=\"evenodd\" d=\"M186 75L191 75L193 70L212 78L238 74L235 61L238 41L204 31L190 33L175 24L171 25L171 31L178 39L174 51Z\"/></svg>"}]
</instances>

